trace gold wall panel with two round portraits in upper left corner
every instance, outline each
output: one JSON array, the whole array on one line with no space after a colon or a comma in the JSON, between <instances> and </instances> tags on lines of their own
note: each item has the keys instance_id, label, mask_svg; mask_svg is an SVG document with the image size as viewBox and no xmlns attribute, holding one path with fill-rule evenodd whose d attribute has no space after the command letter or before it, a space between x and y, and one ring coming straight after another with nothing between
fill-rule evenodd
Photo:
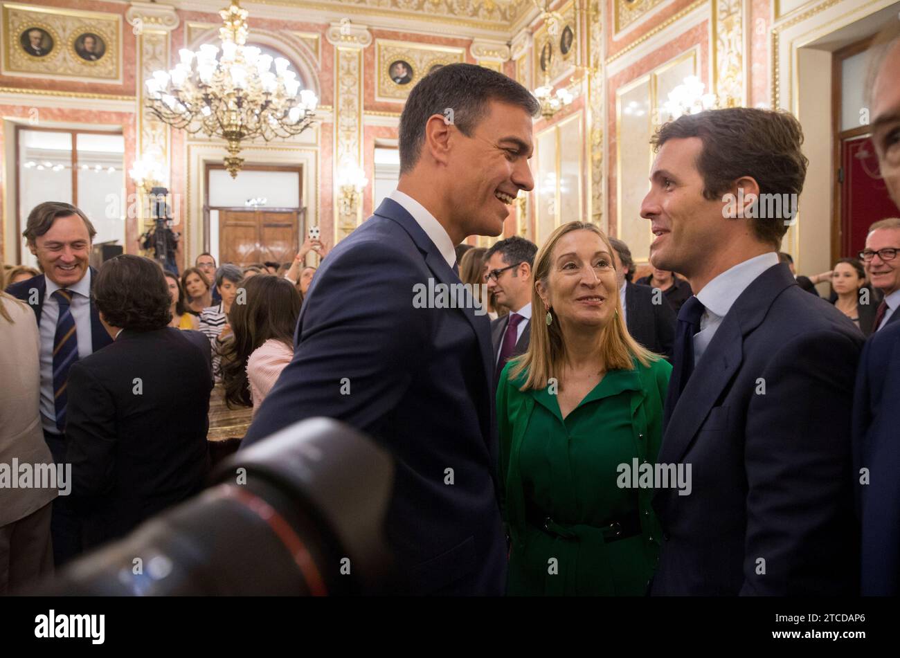
<instances>
[{"instance_id":1,"label":"gold wall panel with two round portraits in upper left corner","mask_svg":"<svg viewBox=\"0 0 900 658\"><path fill-rule=\"evenodd\" d=\"M4 3L3 73L121 84L121 24L116 13Z\"/></svg>"}]
</instances>

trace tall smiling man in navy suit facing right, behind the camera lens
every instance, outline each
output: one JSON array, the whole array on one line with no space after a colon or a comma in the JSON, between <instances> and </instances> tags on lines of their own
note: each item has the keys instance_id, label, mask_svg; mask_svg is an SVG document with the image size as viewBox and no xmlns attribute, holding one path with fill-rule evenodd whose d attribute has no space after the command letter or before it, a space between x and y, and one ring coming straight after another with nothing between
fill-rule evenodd
<instances>
[{"instance_id":1,"label":"tall smiling man in navy suit facing right, behind the camera lens","mask_svg":"<svg viewBox=\"0 0 900 658\"><path fill-rule=\"evenodd\" d=\"M397 190L322 262L293 360L244 439L252 449L294 422L329 416L389 449L386 529L399 591L504 588L491 328L464 293L454 245L500 235L518 191L532 189L538 110L520 84L470 64L441 67L413 88Z\"/></svg>"}]
</instances>

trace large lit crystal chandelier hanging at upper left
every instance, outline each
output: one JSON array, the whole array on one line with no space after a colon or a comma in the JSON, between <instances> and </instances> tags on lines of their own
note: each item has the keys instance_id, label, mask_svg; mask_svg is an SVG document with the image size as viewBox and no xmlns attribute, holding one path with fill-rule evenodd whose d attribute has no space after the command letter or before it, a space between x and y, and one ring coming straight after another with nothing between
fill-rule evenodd
<instances>
[{"instance_id":1,"label":"large lit crystal chandelier hanging at upper left","mask_svg":"<svg viewBox=\"0 0 900 658\"><path fill-rule=\"evenodd\" d=\"M319 99L300 89L290 62L247 46L247 10L238 0L219 12L219 48L178 51L171 71L155 71L147 80L148 110L164 123L188 133L203 132L225 139L229 155L225 168L232 178L244 164L239 157L245 139L288 138L310 128Z\"/></svg>"}]
</instances>

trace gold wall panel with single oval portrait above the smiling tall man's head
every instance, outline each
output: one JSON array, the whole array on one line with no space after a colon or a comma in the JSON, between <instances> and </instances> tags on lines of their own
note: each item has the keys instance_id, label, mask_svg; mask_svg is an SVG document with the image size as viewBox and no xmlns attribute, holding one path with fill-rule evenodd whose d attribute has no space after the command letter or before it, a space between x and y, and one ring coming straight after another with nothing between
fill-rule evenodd
<instances>
[{"instance_id":1,"label":"gold wall panel with single oval portrait above the smiling tall man's head","mask_svg":"<svg viewBox=\"0 0 900 658\"><path fill-rule=\"evenodd\" d=\"M375 100L403 102L416 83L435 67L465 61L465 49L408 41L375 40ZM398 62L406 76L398 76Z\"/></svg>"}]
</instances>

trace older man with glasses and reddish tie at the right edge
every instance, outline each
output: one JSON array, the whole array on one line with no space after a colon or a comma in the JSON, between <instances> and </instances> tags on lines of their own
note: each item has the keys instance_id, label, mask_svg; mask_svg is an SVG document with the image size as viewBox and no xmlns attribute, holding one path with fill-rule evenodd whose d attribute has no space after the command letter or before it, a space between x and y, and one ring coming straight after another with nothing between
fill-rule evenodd
<instances>
[{"instance_id":1,"label":"older man with glasses and reddish tie at the right edge","mask_svg":"<svg viewBox=\"0 0 900 658\"><path fill-rule=\"evenodd\" d=\"M900 305L900 259L896 257L898 251L900 218L882 219L869 227L866 248L860 252L860 259L872 286L884 295L875 314L872 333L900 318L900 313L896 313L896 308Z\"/></svg>"}]
</instances>

